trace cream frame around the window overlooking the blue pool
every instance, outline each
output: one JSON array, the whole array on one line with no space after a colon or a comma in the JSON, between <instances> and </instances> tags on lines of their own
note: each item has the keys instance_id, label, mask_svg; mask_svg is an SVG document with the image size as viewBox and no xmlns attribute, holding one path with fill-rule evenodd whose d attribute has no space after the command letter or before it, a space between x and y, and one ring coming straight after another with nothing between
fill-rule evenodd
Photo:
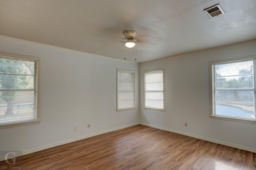
<instances>
[{"instance_id":1,"label":"cream frame around the window overlooking the blue pool","mask_svg":"<svg viewBox=\"0 0 256 170\"><path fill-rule=\"evenodd\" d=\"M246 119L244 117L228 117L224 115L215 115L214 114L214 64L222 64L222 63L232 63L232 62L239 62L239 61L246 61L246 60L254 60L254 107L255 107L255 113L256 113L256 57L240 57L236 59L225 59L225 60L218 60L218 61L211 61L209 62L209 80L210 80L210 118L213 119L220 119L220 120L226 120L226 121L236 121L236 122L242 122L242 123L253 123L256 124L256 119Z\"/></svg>"}]
</instances>

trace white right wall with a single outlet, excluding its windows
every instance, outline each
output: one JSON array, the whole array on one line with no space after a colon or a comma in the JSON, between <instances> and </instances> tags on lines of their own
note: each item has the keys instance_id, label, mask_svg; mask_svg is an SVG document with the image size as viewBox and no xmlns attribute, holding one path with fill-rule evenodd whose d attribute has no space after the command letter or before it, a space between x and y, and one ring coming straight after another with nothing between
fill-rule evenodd
<instances>
[{"instance_id":1,"label":"white right wall with a single outlet, excluding its windows","mask_svg":"<svg viewBox=\"0 0 256 170\"><path fill-rule=\"evenodd\" d=\"M256 124L210 118L209 61L251 55L256 41L141 63L140 122L256 152ZM165 112L143 109L143 72L156 68L165 68Z\"/></svg>"}]
</instances>

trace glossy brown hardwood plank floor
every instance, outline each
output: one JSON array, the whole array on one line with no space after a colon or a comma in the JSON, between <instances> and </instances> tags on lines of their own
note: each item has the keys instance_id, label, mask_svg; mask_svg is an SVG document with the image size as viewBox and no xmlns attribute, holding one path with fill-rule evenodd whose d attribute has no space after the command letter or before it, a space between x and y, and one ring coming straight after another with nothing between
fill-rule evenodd
<instances>
[{"instance_id":1,"label":"glossy brown hardwood plank floor","mask_svg":"<svg viewBox=\"0 0 256 170\"><path fill-rule=\"evenodd\" d=\"M0 162L1 170L255 170L256 153L136 125Z\"/></svg>"}]
</instances>

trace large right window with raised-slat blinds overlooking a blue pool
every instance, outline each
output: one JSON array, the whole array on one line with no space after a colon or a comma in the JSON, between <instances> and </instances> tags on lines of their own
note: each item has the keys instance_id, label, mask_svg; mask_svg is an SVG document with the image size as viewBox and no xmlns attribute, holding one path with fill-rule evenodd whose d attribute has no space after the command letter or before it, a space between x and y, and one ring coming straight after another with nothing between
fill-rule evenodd
<instances>
[{"instance_id":1,"label":"large right window with raised-slat blinds overlooking a blue pool","mask_svg":"<svg viewBox=\"0 0 256 170\"><path fill-rule=\"evenodd\" d=\"M212 62L211 117L256 123L255 59Z\"/></svg>"}]
</instances>

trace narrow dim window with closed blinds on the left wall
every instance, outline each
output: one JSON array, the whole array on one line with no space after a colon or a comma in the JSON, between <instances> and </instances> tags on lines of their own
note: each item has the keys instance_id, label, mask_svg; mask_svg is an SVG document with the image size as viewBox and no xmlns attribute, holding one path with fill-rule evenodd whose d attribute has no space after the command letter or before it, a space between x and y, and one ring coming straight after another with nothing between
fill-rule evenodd
<instances>
[{"instance_id":1,"label":"narrow dim window with closed blinds on the left wall","mask_svg":"<svg viewBox=\"0 0 256 170\"><path fill-rule=\"evenodd\" d=\"M117 69L117 111L135 108L135 71Z\"/></svg>"}]
</instances>

